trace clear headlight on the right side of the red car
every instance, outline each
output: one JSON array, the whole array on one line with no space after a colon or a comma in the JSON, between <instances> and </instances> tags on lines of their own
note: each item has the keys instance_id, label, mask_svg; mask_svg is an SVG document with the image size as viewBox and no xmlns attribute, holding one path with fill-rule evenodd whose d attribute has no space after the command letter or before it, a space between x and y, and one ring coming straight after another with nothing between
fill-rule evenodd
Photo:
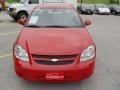
<instances>
[{"instance_id":1,"label":"clear headlight on the right side of the red car","mask_svg":"<svg viewBox=\"0 0 120 90\"><path fill-rule=\"evenodd\" d=\"M85 49L80 57L80 62L82 61L88 61L95 57L95 47L93 45L90 45L87 49Z\"/></svg>"}]
</instances>

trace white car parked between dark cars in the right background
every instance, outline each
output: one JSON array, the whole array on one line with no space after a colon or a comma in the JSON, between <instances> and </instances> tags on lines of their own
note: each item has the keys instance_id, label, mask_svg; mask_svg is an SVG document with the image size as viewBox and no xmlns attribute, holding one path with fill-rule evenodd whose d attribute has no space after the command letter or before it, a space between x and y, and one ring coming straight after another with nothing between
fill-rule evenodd
<instances>
[{"instance_id":1,"label":"white car parked between dark cars in the right background","mask_svg":"<svg viewBox=\"0 0 120 90\"><path fill-rule=\"evenodd\" d=\"M94 6L94 12L96 14L107 14L107 15L109 15L110 14L110 9L105 4L96 4Z\"/></svg>"}]
</instances>

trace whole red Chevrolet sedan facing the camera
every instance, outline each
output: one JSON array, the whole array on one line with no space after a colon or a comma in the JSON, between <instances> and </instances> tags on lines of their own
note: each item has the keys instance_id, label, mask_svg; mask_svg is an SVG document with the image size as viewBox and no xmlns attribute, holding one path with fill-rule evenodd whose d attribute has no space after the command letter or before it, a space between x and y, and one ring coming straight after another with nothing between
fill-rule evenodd
<instances>
[{"instance_id":1,"label":"whole red Chevrolet sedan facing the camera","mask_svg":"<svg viewBox=\"0 0 120 90\"><path fill-rule=\"evenodd\" d=\"M90 77L96 48L85 28L89 24L70 5L36 6L13 47L16 74L39 82L70 82Z\"/></svg>"}]
</instances>

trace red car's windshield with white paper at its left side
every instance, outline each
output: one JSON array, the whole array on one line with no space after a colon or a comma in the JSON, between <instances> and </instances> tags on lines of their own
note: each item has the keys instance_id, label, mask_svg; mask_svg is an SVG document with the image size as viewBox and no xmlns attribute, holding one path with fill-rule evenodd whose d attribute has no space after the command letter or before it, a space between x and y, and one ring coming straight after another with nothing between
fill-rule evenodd
<instances>
[{"instance_id":1,"label":"red car's windshield with white paper at its left side","mask_svg":"<svg viewBox=\"0 0 120 90\"><path fill-rule=\"evenodd\" d=\"M82 21L73 9L35 9L27 27L82 27Z\"/></svg>"}]
</instances>

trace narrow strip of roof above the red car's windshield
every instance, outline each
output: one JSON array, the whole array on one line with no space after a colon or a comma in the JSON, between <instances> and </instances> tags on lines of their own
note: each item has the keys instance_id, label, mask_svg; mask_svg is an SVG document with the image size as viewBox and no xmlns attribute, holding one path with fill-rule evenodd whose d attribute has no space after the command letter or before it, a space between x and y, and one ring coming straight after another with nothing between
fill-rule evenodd
<instances>
[{"instance_id":1,"label":"narrow strip of roof above the red car's windshield","mask_svg":"<svg viewBox=\"0 0 120 90\"><path fill-rule=\"evenodd\" d=\"M40 8L68 8L73 9L74 7L70 4L39 4L36 6L36 9Z\"/></svg>"}]
</instances>

